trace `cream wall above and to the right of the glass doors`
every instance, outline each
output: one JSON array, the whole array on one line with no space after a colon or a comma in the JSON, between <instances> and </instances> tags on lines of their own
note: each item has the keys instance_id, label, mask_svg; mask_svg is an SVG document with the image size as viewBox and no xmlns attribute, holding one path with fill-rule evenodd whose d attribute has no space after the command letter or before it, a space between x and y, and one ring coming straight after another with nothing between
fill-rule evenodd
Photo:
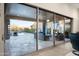
<instances>
[{"instance_id":1,"label":"cream wall above and to the right of the glass doors","mask_svg":"<svg viewBox=\"0 0 79 59\"><path fill-rule=\"evenodd\" d=\"M70 4L60 4L60 3L30 3L31 5L38 6L47 10L54 11L56 13L66 15L73 18L73 28L72 32L79 31L79 17L78 9L71 6Z\"/></svg>"}]
</instances>

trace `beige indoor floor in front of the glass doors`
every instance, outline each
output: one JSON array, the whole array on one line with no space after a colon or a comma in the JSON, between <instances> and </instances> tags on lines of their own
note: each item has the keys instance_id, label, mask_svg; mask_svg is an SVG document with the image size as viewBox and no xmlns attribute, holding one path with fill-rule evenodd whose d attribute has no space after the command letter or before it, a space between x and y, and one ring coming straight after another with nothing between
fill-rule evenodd
<instances>
[{"instance_id":1,"label":"beige indoor floor in front of the glass doors","mask_svg":"<svg viewBox=\"0 0 79 59\"><path fill-rule=\"evenodd\" d=\"M71 54L71 43L65 43L56 47L48 48L36 53L28 54L28 56L73 56Z\"/></svg>"}]
</instances>

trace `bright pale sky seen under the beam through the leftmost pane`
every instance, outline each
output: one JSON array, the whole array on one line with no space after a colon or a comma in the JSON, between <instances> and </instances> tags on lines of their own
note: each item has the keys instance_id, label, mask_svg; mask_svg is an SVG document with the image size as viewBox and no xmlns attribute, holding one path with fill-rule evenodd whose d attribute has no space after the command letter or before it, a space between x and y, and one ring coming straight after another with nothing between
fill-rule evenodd
<instances>
[{"instance_id":1,"label":"bright pale sky seen under the beam through the leftmost pane","mask_svg":"<svg viewBox=\"0 0 79 59\"><path fill-rule=\"evenodd\" d=\"M32 21L22 21L22 20L10 19L10 25L18 25L18 26L23 26L23 27L29 27L33 23L34 22L32 22Z\"/></svg>"}]
</instances>

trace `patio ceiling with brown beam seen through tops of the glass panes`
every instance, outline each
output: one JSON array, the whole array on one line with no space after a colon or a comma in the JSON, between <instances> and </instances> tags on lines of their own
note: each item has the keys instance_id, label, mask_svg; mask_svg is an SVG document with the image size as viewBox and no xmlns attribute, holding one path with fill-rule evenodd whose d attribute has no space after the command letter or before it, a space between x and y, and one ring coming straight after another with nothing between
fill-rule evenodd
<instances>
[{"instance_id":1,"label":"patio ceiling with brown beam seen through tops of the glass panes","mask_svg":"<svg viewBox=\"0 0 79 59\"><path fill-rule=\"evenodd\" d=\"M7 18L36 21L36 9L26 5L16 3L6 4L5 14ZM53 14L39 10L39 20L45 21L48 19L53 21ZM63 19L63 17L56 15L56 19L60 20Z\"/></svg>"}]
</instances>

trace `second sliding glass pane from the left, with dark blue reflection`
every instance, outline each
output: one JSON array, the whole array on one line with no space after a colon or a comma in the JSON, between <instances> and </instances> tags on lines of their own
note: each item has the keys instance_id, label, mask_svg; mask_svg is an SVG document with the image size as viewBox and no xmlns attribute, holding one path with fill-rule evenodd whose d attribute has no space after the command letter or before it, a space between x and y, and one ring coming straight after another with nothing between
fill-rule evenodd
<instances>
[{"instance_id":1,"label":"second sliding glass pane from the left, with dark blue reflection","mask_svg":"<svg viewBox=\"0 0 79 59\"><path fill-rule=\"evenodd\" d=\"M53 14L39 9L38 49L53 46Z\"/></svg>"}]
</instances>

